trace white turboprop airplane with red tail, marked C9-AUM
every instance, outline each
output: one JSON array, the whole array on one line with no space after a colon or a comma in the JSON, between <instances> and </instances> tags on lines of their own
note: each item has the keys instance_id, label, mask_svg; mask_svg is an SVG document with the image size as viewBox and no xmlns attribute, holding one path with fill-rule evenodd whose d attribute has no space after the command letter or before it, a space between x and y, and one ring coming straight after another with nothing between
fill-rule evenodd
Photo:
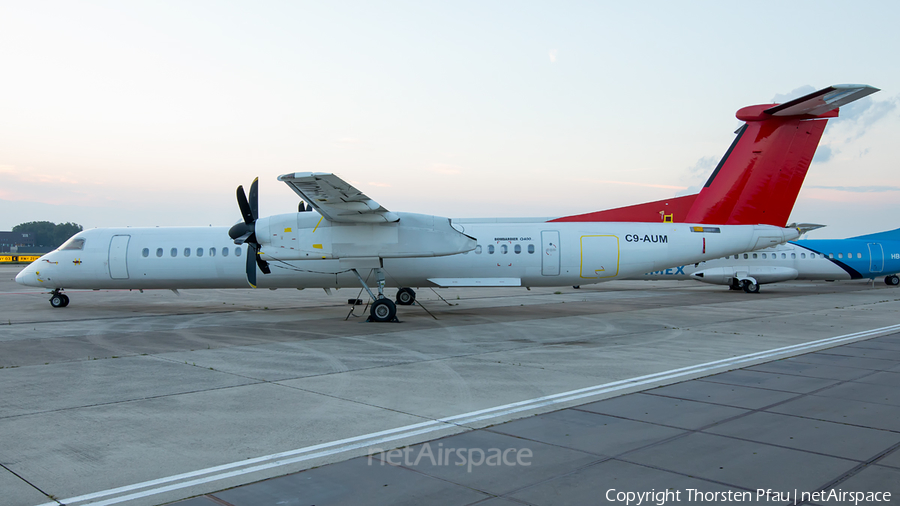
<instances>
[{"instance_id":1,"label":"white turboprop airplane with red tail, marked C9-AUM","mask_svg":"<svg viewBox=\"0 0 900 506\"><path fill-rule=\"evenodd\" d=\"M259 217L257 179L249 198L238 186L242 220L231 228L85 230L16 281L51 290L53 307L68 305L64 289L361 286L369 321L387 322L396 304L415 302L412 287L582 285L762 249L800 236L784 227L825 124L876 91L835 85L740 109L744 125L695 195L557 218L451 220L388 211L334 174L298 172L278 178L300 196L298 212ZM398 288L396 304L386 286Z\"/></svg>"}]
</instances>

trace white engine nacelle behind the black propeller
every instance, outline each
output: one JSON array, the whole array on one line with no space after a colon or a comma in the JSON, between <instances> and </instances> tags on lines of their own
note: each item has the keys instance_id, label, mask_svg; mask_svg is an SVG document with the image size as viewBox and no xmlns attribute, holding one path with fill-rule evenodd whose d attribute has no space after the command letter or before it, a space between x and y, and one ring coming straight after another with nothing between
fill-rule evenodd
<instances>
[{"instance_id":1,"label":"white engine nacelle behind the black propeller","mask_svg":"<svg viewBox=\"0 0 900 506\"><path fill-rule=\"evenodd\" d=\"M449 218L397 213L393 223L333 223L315 212L256 221L264 260L437 257L475 249L475 239Z\"/></svg>"}]
</instances>

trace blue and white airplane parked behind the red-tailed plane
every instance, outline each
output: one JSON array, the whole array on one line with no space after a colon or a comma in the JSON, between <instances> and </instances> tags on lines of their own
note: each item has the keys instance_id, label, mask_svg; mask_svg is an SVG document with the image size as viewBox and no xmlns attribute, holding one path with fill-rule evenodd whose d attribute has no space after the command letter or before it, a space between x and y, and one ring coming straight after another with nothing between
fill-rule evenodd
<instances>
[{"instance_id":1,"label":"blue and white airplane parked behind the red-tailed plane","mask_svg":"<svg viewBox=\"0 0 900 506\"><path fill-rule=\"evenodd\" d=\"M900 285L900 228L848 239L802 239L697 264L648 272L632 279L694 279L732 290L759 292L759 285L794 279L838 281L884 276Z\"/></svg>"}]
</instances>

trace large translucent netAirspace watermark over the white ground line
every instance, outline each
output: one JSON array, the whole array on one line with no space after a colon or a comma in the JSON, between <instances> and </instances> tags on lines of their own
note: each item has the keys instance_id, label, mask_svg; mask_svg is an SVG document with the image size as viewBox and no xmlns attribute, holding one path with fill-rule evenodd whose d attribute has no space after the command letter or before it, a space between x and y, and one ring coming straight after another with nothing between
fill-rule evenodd
<instances>
[{"instance_id":1,"label":"large translucent netAirspace watermark over the white ground line","mask_svg":"<svg viewBox=\"0 0 900 506\"><path fill-rule=\"evenodd\" d=\"M415 455L413 455L415 454ZM444 448L444 443L438 443L437 450L431 447L431 443L423 444L418 450L409 446L385 451L381 448L369 448L369 465L372 459L378 459L379 465L385 463L393 466L418 466L419 464L431 464L432 466L464 466L466 472L471 473L473 467L482 465L489 467L528 467L531 465L531 457L534 454L529 448Z\"/></svg>"}]
</instances>

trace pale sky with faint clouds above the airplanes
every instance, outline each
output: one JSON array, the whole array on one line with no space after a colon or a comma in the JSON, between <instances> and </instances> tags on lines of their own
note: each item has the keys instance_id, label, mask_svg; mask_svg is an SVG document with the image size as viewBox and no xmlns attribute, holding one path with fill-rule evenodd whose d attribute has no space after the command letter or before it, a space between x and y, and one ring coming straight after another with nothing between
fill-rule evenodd
<instances>
[{"instance_id":1,"label":"pale sky with faint clouds above the airplanes","mask_svg":"<svg viewBox=\"0 0 900 506\"><path fill-rule=\"evenodd\" d=\"M391 211L564 216L693 193L734 113L832 84L792 221L900 227L900 3L0 0L0 230L231 225L333 172Z\"/></svg>"}]
</instances>

